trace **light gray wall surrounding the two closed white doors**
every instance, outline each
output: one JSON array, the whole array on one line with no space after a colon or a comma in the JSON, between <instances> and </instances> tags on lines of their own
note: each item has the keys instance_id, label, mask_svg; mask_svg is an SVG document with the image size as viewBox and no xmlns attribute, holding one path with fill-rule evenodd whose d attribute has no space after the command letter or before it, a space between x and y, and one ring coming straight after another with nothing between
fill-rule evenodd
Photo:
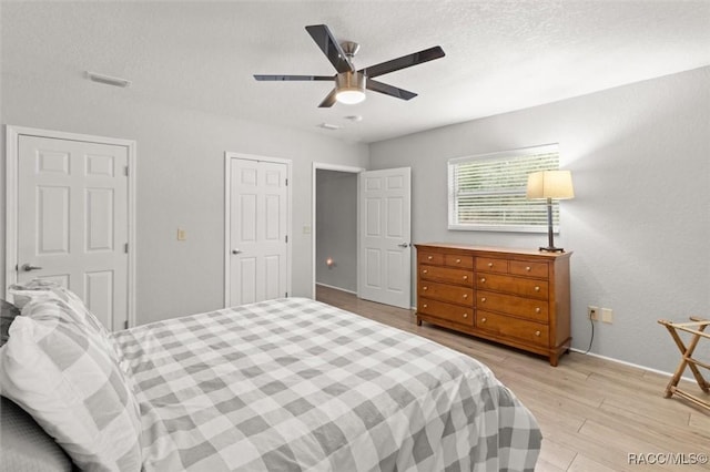
<instances>
[{"instance_id":1,"label":"light gray wall surrounding the two closed white doors","mask_svg":"<svg viewBox=\"0 0 710 472\"><path fill-rule=\"evenodd\" d=\"M3 60L0 122L138 142L140 324L223 305L225 151L293 160L293 295L311 296L313 235L302 228L312 225L313 162L366 167L366 145L176 109L51 66L53 80L32 79L14 75L13 64ZM0 145L4 154L4 137ZM4 248L4 165L0 168ZM185 242L176 240L179 227L186 230Z\"/></svg>"}]
</instances>

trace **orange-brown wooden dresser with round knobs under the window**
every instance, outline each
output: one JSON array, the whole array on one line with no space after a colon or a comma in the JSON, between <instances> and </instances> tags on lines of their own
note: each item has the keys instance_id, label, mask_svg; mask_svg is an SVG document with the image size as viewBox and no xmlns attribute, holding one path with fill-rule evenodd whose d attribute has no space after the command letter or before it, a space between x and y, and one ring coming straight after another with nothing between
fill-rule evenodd
<instances>
[{"instance_id":1,"label":"orange-brown wooden dresser with round knobs under the window","mask_svg":"<svg viewBox=\"0 0 710 472\"><path fill-rule=\"evenodd\" d=\"M570 346L571 253L417 244L417 325L547 356Z\"/></svg>"}]
</instances>

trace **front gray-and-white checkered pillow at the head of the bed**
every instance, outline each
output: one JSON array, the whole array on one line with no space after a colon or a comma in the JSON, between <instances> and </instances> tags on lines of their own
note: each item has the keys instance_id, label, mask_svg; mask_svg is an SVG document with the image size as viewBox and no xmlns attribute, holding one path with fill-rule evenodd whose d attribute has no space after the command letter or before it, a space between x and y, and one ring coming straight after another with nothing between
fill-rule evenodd
<instances>
[{"instance_id":1,"label":"front gray-and-white checkered pillow at the head of the bed","mask_svg":"<svg viewBox=\"0 0 710 472\"><path fill-rule=\"evenodd\" d=\"M49 298L26 304L0 348L0 393L82 470L140 471L138 401L115 360L70 310Z\"/></svg>"}]
</instances>

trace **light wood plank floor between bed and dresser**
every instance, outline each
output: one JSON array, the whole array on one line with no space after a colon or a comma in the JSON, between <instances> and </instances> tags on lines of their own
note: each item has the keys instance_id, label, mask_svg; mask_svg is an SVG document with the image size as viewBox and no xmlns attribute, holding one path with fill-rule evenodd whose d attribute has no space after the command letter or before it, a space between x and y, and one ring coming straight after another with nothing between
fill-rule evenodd
<instances>
[{"instance_id":1,"label":"light wood plank floor between bed and dresser","mask_svg":"<svg viewBox=\"0 0 710 472\"><path fill-rule=\"evenodd\" d=\"M424 336L487 365L540 424L545 439L536 472L710 470L710 464L629 463L630 453L676 453L687 462L692 461L690 454L710 454L710 414L674 397L665 399L668 377L579 352L562 356L554 368L546 358L426 322L418 327L410 310L321 286L316 298ZM691 382L683 382L683 388L704 394Z\"/></svg>"}]
</instances>

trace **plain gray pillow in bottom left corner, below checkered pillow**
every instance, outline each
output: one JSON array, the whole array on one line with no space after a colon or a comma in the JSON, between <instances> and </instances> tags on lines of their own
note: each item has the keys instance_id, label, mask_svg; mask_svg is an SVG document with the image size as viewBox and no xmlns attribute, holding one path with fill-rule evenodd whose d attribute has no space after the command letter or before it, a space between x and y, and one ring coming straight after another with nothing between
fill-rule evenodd
<instances>
[{"instance_id":1,"label":"plain gray pillow in bottom left corner, below checkered pillow","mask_svg":"<svg viewBox=\"0 0 710 472\"><path fill-rule=\"evenodd\" d=\"M0 470L49 472L78 469L32 417L11 400L0 397Z\"/></svg>"}]
</instances>

